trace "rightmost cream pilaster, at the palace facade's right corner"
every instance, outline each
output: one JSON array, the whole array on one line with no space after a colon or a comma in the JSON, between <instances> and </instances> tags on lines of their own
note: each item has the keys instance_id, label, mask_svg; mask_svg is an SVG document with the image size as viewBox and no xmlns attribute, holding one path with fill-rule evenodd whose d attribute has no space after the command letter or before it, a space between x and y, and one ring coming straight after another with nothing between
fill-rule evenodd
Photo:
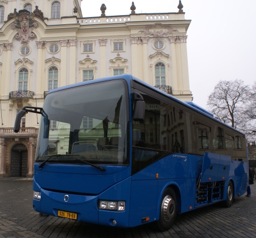
<instances>
[{"instance_id":1,"label":"rightmost cream pilaster, at the palace facade's right corner","mask_svg":"<svg viewBox=\"0 0 256 238\"><path fill-rule=\"evenodd\" d=\"M183 94L191 94L188 78L188 54L187 54L188 36L180 36L180 53L182 60Z\"/></svg>"}]
</instances>

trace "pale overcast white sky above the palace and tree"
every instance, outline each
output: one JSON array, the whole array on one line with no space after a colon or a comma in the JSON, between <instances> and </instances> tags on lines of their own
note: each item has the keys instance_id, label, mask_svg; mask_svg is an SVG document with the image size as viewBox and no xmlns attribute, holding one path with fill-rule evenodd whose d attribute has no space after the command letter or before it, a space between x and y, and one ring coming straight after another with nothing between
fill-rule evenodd
<instances>
[{"instance_id":1,"label":"pale overcast white sky above the palace and tree","mask_svg":"<svg viewBox=\"0 0 256 238\"><path fill-rule=\"evenodd\" d=\"M179 0L135 0L136 13L178 12ZM129 15L132 1L82 1L84 17ZM207 108L219 80L256 81L256 0L182 0L188 28L188 69L193 102Z\"/></svg>"}]
</instances>

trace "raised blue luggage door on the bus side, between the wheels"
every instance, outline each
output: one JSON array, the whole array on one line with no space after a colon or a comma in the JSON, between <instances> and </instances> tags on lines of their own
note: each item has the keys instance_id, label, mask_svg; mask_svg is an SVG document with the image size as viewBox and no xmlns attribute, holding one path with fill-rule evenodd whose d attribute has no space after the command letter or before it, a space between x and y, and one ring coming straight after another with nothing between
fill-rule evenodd
<instances>
[{"instance_id":1,"label":"raised blue luggage door on the bus side, between the wheels","mask_svg":"<svg viewBox=\"0 0 256 238\"><path fill-rule=\"evenodd\" d=\"M230 161L230 156L205 152L201 183L227 180Z\"/></svg>"}]
</instances>

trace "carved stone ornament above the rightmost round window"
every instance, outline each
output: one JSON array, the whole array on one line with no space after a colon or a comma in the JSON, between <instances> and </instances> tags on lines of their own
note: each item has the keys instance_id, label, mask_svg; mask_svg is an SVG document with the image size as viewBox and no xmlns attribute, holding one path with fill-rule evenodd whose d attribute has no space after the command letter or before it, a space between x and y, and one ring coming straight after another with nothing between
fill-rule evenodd
<instances>
[{"instance_id":1,"label":"carved stone ornament above the rightmost round window","mask_svg":"<svg viewBox=\"0 0 256 238\"><path fill-rule=\"evenodd\" d=\"M165 28L166 30L154 30L154 32L151 32L151 29L154 27L157 27L160 25L161 28ZM145 35L151 35L154 36L154 38L160 39L163 38L163 36L172 35L174 32L179 32L177 29L173 29L171 25L163 25L161 22L156 22L152 25L146 25L145 29L140 30L138 33L144 33Z\"/></svg>"}]
</instances>

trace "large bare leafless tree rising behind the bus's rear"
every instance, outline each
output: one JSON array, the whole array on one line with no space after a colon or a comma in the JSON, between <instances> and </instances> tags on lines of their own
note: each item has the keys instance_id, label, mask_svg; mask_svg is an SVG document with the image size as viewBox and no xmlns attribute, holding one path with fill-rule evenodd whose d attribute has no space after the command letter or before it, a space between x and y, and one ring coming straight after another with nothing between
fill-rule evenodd
<instances>
[{"instance_id":1,"label":"large bare leafless tree rising behind the bus's rear","mask_svg":"<svg viewBox=\"0 0 256 238\"><path fill-rule=\"evenodd\" d=\"M244 85L242 80L221 80L208 97L207 105L218 120L241 130L246 123L244 104L250 95L249 85Z\"/></svg>"}]
</instances>

